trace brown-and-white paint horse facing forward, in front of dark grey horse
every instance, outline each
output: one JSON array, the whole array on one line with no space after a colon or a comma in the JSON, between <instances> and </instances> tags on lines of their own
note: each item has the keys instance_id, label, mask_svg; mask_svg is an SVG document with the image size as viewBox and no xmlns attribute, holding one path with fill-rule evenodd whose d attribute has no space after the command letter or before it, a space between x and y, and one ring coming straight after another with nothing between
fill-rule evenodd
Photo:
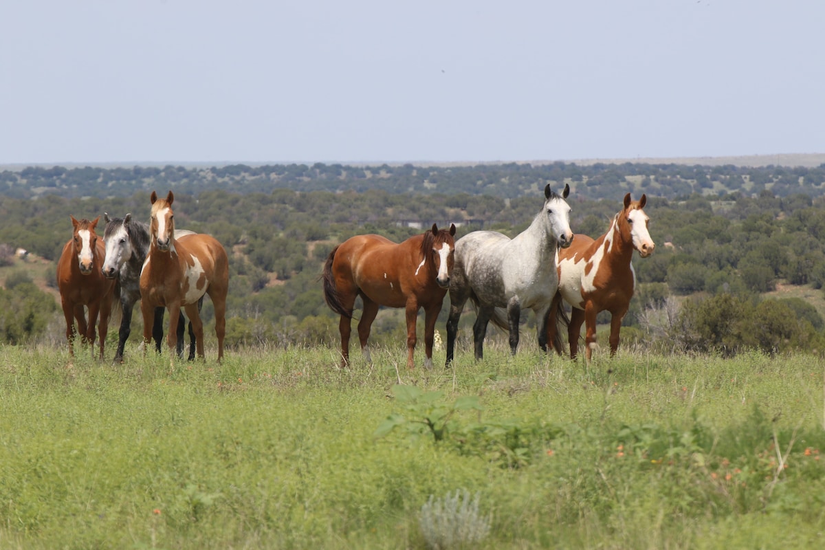
<instances>
[{"instance_id":1,"label":"brown-and-white paint horse facing forward, in front of dark grey horse","mask_svg":"<svg viewBox=\"0 0 825 550\"><path fill-rule=\"evenodd\" d=\"M214 306L214 331L218 336L218 360L224 358L226 294L229 292L229 258L220 242L210 235L175 236L175 219L169 191L166 199L152 191L149 251L140 274L140 310L144 315L144 344L152 337L154 308L169 310L169 326L177 327L181 308L195 332L197 355L204 358L204 325L198 303L209 294ZM170 352L177 346L177 332L169 331ZM144 349L145 353L145 349Z\"/></svg>"}]
</instances>

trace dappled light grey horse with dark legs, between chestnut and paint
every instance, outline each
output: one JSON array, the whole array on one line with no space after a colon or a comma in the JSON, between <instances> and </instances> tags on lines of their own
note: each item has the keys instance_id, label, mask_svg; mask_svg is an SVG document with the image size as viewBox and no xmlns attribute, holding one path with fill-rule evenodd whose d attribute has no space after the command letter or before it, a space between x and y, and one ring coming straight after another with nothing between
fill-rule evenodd
<instances>
[{"instance_id":1,"label":"dappled light grey horse with dark legs, between chestnut and paint","mask_svg":"<svg viewBox=\"0 0 825 550\"><path fill-rule=\"evenodd\" d=\"M459 319L468 299L477 311L473 325L476 360L483 358L484 335L490 321L509 330L510 350L516 353L523 308L535 313L539 346L547 350L547 319L559 285L557 249L573 242L570 206L565 201L569 194L568 185L561 195L545 186L541 211L530 227L512 239L495 231L473 231L455 242L447 319L447 366L453 360Z\"/></svg>"}]
</instances>

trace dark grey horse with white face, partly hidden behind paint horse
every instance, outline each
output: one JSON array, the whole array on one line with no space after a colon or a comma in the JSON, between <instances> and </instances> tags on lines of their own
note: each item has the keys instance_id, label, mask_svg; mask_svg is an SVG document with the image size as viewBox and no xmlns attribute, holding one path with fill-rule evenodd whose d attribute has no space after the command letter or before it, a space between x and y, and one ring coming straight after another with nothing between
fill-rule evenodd
<instances>
[{"instance_id":1,"label":"dark grey horse with white face, partly hidden behind paint horse","mask_svg":"<svg viewBox=\"0 0 825 550\"><path fill-rule=\"evenodd\" d=\"M132 325L134 303L140 299L140 270L146 261L149 249L149 228L146 223L132 219L132 214L125 218L109 218L103 213L106 228L103 242L106 244L106 261L102 272L107 279L117 280L120 284L120 331L115 352L115 363L123 363L126 340L129 339ZM177 237L191 231L178 229ZM186 319L181 315L177 323L177 356L183 356L183 333ZM152 337L155 349L160 353L163 341L163 307L155 308ZM189 323L189 360L195 359L195 332Z\"/></svg>"}]
</instances>

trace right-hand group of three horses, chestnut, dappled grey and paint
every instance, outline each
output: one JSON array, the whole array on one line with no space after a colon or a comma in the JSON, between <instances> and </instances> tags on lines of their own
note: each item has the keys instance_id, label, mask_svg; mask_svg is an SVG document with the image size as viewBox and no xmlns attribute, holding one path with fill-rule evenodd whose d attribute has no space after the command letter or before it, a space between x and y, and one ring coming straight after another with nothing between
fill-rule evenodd
<instances>
[{"instance_id":1,"label":"right-hand group of three horses, chestnut, dappled grey and paint","mask_svg":"<svg viewBox=\"0 0 825 550\"><path fill-rule=\"evenodd\" d=\"M650 256L655 247L644 214L646 195L631 200L610 228L595 240L570 230L569 186L559 195L544 187L544 205L530 226L512 239L495 231L472 231L455 240L455 225L436 225L400 244L377 235L351 237L330 252L323 267L323 296L341 318L341 364L349 363L350 325L357 297L364 303L358 336L370 360L367 339L379 306L406 308L408 367L413 367L417 311L424 308L425 366L432 365L436 317L450 294L447 319L447 366L455 356L455 337L464 305L476 312L474 355L483 357L489 322L509 333L516 353L521 310L535 313L539 346L552 345L562 355L558 324L568 326L570 357L577 356L582 323L586 325L585 355L596 346L596 315L610 312L610 355L619 346L622 319L633 297L636 278L633 251ZM572 308L568 319L562 301Z\"/></svg>"}]
</instances>

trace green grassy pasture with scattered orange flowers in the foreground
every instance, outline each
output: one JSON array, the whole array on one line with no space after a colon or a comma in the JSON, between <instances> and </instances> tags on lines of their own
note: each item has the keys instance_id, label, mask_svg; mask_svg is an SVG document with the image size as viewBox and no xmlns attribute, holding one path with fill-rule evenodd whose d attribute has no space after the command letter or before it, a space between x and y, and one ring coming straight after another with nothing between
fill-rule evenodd
<instances>
[{"instance_id":1,"label":"green grassy pasture with scattered orange flowers in the foreground","mask_svg":"<svg viewBox=\"0 0 825 550\"><path fill-rule=\"evenodd\" d=\"M427 548L422 505L457 489L474 548L825 542L818 357L465 340L412 371L403 341L348 369L335 345L172 371L0 348L0 548Z\"/></svg>"}]
</instances>

